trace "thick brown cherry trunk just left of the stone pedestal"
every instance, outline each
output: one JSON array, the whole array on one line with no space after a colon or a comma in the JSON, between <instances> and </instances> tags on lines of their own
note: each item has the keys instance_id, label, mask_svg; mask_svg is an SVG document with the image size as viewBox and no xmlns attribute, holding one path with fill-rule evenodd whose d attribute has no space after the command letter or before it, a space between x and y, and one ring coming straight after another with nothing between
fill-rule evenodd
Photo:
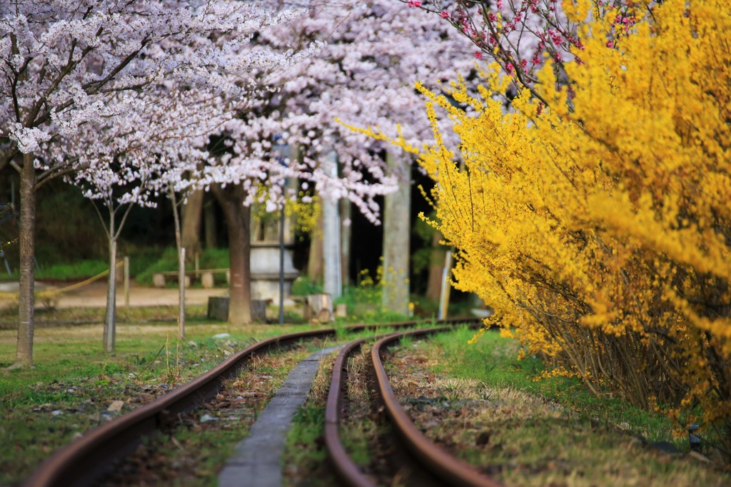
<instances>
[{"instance_id":1,"label":"thick brown cherry trunk just left of the stone pedestal","mask_svg":"<svg viewBox=\"0 0 731 487\"><path fill-rule=\"evenodd\" d=\"M243 205L246 194L240 186L221 189L213 194L224 211L229 235L229 324L251 323L251 208Z\"/></svg>"}]
</instances>

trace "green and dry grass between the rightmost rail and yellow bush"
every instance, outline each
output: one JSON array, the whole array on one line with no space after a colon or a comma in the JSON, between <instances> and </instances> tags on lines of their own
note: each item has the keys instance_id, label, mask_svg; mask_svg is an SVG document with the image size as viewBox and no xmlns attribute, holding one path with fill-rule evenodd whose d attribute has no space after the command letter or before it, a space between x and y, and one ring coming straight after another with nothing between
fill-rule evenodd
<instances>
[{"instance_id":1,"label":"green and dry grass between the rightmost rail and yellow bush","mask_svg":"<svg viewBox=\"0 0 731 487\"><path fill-rule=\"evenodd\" d=\"M518 344L461 329L403 347L388 361L397 396L431 439L507 486L721 486L731 475L688 454L660 416L580 381L534 380L539 360L516 360ZM674 442L686 453L649 448ZM708 452L706 452L708 453ZM720 465L716 465L720 467Z\"/></svg>"}]
</instances>

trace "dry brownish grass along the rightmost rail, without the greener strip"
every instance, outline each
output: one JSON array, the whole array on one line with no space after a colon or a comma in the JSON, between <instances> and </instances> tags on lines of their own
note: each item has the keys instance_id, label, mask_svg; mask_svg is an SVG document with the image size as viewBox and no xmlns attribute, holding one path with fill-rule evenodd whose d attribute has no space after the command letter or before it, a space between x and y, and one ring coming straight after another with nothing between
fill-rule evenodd
<instances>
[{"instance_id":1,"label":"dry brownish grass along the rightmost rail, without the greener strip","mask_svg":"<svg viewBox=\"0 0 731 487\"><path fill-rule=\"evenodd\" d=\"M731 477L670 456L613 425L523 390L434 374L443 350L423 342L387 359L391 383L433 441L507 486L724 486Z\"/></svg>"}]
</instances>

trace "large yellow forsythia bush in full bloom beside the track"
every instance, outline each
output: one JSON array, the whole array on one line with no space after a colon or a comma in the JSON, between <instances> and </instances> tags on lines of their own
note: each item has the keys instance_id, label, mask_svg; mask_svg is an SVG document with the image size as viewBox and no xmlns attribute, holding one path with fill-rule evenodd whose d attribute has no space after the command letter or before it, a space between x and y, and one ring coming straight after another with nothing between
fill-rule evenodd
<instances>
[{"instance_id":1,"label":"large yellow forsythia bush in full bloom beside the track","mask_svg":"<svg viewBox=\"0 0 731 487\"><path fill-rule=\"evenodd\" d=\"M567 3L574 20L591 16L588 1ZM582 24L569 82L539 75L545 105L524 91L505 113L497 67L480 96L452 86L469 110L424 91L461 146L438 142L420 162L438 183L434 224L458 248L457 286L525 353L596 393L700 417L728 453L731 9L635 4L621 14L629 34L619 12Z\"/></svg>"}]
</instances>

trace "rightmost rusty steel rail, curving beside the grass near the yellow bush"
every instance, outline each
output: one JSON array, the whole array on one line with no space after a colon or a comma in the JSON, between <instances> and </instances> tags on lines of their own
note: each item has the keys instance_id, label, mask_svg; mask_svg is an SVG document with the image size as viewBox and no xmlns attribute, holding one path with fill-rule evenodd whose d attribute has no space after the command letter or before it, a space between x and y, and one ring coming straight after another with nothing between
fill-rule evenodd
<instances>
[{"instance_id":1,"label":"rightmost rusty steel rail, curving beside the grass near the yellow bush","mask_svg":"<svg viewBox=\"0 0 731 487\"><path fill-rule=\"evenodd\" d=\"M404 411L404 408L401 407L401 404L398 403L381 360L382 350L387 345L401 340L404 336L431 334L448 329L429 328L426 330L394 333L377 341L371 349L371 360L376 373L376 385L379 395L394 429L404 440L406 447L409 448L411 453L421 461L425 469L430 470L434 475L438 475L445 483L452 486L499 487L502 484L497 480L482 474L482 472L479 472L459 458L452 456L447 450L444 450L444 448L425 437L414 425L409 415Z\"/></svg>"}]
</instances>

